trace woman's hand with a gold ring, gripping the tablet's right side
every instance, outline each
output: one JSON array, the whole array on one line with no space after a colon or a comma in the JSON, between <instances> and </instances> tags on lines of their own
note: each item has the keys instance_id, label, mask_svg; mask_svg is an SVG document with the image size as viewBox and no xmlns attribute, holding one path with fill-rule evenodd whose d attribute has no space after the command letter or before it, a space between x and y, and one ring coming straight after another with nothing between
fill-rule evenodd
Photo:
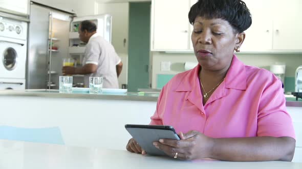
<instances>
[{"instance_id":1,"label":"woman's hand with a gold ring, gripping the tablet's right side","mask_svg":"<svg viewBox=\"0 0 302 169\"><path fill-rule=\"evenodd\" d=\"M180 140L160 139L153 145L165 152L170 157L181 160L195 160L210 158L213 138L207 137L198 131L189 131L178 134Z\"/></svg>"}]
</instances>

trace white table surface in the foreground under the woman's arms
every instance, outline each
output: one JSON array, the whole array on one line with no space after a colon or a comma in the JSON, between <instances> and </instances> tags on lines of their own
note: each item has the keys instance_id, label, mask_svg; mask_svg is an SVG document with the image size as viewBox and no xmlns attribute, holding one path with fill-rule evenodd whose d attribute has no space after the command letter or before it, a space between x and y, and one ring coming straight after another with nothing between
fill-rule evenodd
<instances>
[{"instance_id":1,"label":"white table surface in the foreground under the woman's arms","mask_svg":"<svg viewBox=\"0 0 302 169\"><path fill-rule=\"evenodd\" d=\"M302 163L180 161L168 157L142 156L123 150L82 148L0 140L1 169L48 168L296 168Z\"/></svg>"}]
</instances>

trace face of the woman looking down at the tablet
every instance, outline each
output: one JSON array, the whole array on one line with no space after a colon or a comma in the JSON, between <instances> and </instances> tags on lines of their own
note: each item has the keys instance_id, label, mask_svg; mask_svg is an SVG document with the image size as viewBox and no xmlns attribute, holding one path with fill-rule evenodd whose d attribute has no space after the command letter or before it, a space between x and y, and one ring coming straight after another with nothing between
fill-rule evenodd
<instances>
[{"instance_id":1,"label":"face of the woman looking down at the tablet","mask_svg":"<svg viewBox=\"0 0 302 169\"><path fill-rule=\"evenodd\" d=\"M191 35L197 60L202 68L228 69L234 49L241 46L244 33L237 34L228 21L196 17Z\"/></svg>"}]
</instances>

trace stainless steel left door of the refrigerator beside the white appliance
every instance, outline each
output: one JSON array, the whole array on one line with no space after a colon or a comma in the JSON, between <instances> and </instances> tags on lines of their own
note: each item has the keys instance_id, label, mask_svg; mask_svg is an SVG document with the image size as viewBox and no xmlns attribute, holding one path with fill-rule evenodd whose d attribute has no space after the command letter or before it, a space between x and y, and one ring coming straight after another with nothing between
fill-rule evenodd
<instances>
[{"instance_id":1,"label":"stainless steel left door of the refrigerator beside the white appliance","mask_svg":"<svg viewBox=\"0 0 302 169\"><path fill-rule=\"evenodd\" d=\"M26 89L46 89L50 10L31 4Z\"/></svg>"}]
</instances>

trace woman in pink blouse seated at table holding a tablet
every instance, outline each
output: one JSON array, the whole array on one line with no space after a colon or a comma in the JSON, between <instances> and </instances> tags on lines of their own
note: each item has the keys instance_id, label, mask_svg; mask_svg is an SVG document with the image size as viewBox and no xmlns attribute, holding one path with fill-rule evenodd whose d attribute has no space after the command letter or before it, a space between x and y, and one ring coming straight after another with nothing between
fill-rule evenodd
<instances>
[{"instance_id":1,"label":"woman in pink blouse seated at table holding a tablet","mask_svg":"<svg viewBox=\"0 0 302 169\"><path fill-rule=\"evenodd\" d=\"M199 65L163 87L150 122L174 126L181 140L160 139L154 146L182 160L291 161L295 134L281 81L234 55L252 23L246 4L199 0L189 21ZM126 148L148 153L134 139Z\"/></svg>"}]
</instances>

